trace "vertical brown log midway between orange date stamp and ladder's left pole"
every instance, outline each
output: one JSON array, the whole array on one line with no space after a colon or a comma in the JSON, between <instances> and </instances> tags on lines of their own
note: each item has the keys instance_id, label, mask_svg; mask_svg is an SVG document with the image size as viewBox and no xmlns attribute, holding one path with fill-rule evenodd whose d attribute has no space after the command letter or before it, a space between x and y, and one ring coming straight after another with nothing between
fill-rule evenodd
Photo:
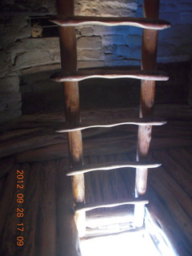
<instances>
[{"instance_id":1,"label":"vertical brown log midway between orange date stamp and ladder's left pole","mask_svg":"<svg viewBox=\"0 0 192 256\"><path fill-rule=\"evenodd\" d=\"M39 205L41 211L38 214L41 227L39 228L39 242L38 251L40 255L55 254L57 244L57 200L56 187L58 188L58 181L56 180L58 171L55 170L55 162L46 162L42 165L42 174L39 179L42 180L42 196L39 197ZM33 180L30 180L33 184ZM39 189L40 190L40 189ZM46 213L46 214L45 214ZM36 223L38 226L38 223ZM37 250L36 250L37 251Z\"/></svg>"}]
</instances>

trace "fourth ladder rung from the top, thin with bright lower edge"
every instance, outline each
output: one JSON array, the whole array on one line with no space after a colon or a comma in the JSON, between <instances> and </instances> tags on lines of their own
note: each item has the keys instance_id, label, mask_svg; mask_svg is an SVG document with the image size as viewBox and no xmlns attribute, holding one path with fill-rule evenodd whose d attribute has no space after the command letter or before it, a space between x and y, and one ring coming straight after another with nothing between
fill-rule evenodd
<instances>
[{"instance_id":1,"label":"fourth ladder rung from the top, thin with bright lower edge","mask_svg":"<svg viewBox=\"0 0 192 256\"><path fill-rule=\"evenodd\" d=\"M66 174L67 176L73 176L78 174L85 174L94 170L114 170L119 168L157 168L161 166L161 163L155 162L107 162L107 163L98 163L82 166L80 168L71 168L70 171Z\"/></svg>"}]
</instances>

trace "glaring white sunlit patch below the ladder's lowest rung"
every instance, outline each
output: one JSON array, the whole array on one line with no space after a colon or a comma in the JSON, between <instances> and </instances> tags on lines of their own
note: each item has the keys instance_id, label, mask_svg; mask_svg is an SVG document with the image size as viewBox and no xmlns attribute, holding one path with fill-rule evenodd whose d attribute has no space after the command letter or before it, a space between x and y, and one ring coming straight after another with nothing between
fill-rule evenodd
<instances>
[{"instance_id":1,"label":"glaring white sunlit patch below the ladder's lowest rung","mask_svg":"<svg viewBox=\"0 0 192 256\"><path fill-rule=\"evenodd\" d=\"M166 234L146 210L145 228L81 242L82 256L176 256Z\"/></svg>"}]
</instances>

